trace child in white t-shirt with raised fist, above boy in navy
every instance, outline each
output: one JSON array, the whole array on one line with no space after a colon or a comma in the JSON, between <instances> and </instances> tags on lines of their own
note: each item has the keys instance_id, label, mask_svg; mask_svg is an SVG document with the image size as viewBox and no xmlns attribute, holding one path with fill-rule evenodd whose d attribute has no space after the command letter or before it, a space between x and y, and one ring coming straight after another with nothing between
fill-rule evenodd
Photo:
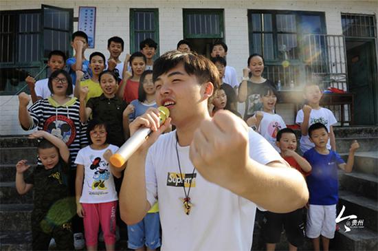
<instances>
[{"instance_id":1,"label":"child in white t-shirt with raised fist, above boy in navy","mask_svg":"<svg viewBox=\"0 0 378 251\"><path fill-rule=\"evenodd\" d=\"M337 123L332 111L324 107L320 107L319 103L322 99L322 90L318 85L309 84L304 87L304 99L308 105L304 105L297 113L296 123L300 125L302 137L300 138L300 151L305 153L313 148L314 144L309 140L307 130L311 124L320 122L324 124L329 131L329 141L327 149L336 151L335 134L333 133L333 124Z\"/></svg>"}]
</instances>

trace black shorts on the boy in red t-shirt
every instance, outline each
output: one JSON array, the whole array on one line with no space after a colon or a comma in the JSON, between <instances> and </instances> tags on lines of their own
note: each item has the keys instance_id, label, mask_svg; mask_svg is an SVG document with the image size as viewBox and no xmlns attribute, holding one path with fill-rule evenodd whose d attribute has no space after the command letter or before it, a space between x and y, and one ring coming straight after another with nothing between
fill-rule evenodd
<instances>
[{"instance_id":1,"label":"black shorts on the boy in red t-shirt","mask_svg":"<svg viewBox=\"0 0 378 251\"><path fill-rule=\"evenodd\" d=\"M265 212L263 238L265 243L279 243L282 225L285 228L287 240L296 247L303 245L304 222L302 208L293 212L275 213Z\"/></svg>"}]
</instances>

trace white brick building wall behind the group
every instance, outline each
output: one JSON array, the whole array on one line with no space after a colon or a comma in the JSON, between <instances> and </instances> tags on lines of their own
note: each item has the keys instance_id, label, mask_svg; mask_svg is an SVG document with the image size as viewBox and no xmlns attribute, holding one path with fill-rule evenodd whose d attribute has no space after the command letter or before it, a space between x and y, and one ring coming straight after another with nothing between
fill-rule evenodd
<instances>
[{"instance_id":1,"label":"white brick building wall behind the group","mask_svg":"<svg viewBox=\"0 0 378 251\"><path fill-rule=\"evenodd\" d=\"M353 0L318 0L318 1L225 1L225 0L155 0L155 1L72 1L72 0L0 0L0 10L26 10L39 9L41 4L57 6L61 8L73 8L74 17L78 17L79 6L96 6L96 47L85 52L86 56L93 51L107 52L107 39L111 36L120 36L124 39L125 52L121 56L124 59L129 53L129 14L130 8L158 8L159 9L159 50L160 54L167 50L173 50L177 41L183 39L183 8L216 8L224 9L225 42L229 47L227 64L235 67L238 79L242 76L242 69L247 65L249 56L247 10L303 10L325 12L326 30L328 34L342 34L341 13L375 14L377 19L378 1L353 1ZM74 23L74 30L77 23ZM0 96L0 105L12 98ZM0 107L0 135L26 133L19 127L17 118L18 100L12 98L6 105ZM293 115L289 113L287 105L282 107L283 117L287 123L293 122Z\"/></svg>"}]
</instances>

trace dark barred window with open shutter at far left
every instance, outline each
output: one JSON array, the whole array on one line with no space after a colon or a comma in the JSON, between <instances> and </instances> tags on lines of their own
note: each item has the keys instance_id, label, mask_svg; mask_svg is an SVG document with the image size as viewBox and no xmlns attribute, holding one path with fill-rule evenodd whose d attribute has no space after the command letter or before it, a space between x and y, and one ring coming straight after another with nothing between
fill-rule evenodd
<instances>
[{"instance_id":1,"label":"dark barred window with open shutter at far left","mask_svg":"<svg viewBox=\"0 0 378 251\"><path fill-rule=\"evenodd\" d=\"M0 11L0 95L28 91L28 75L45 78L45 61L52 50L69 55L72 15L73 10L53 6Z\"/></svg>"}]
</instances>

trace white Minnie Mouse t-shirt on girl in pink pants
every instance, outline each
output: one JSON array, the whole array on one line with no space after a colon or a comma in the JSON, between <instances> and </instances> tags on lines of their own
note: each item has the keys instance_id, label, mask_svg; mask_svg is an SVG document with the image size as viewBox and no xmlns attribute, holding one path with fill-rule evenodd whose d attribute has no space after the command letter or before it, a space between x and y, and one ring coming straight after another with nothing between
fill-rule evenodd
<instances>
[{"instance_id":1,"label":"white Minnie Mouse t-shirt on girl in pink pants","mask_svg":"<svg viewBox=\"0 0 378 251\"><path fill-rule=\"evenodd\" d=\"M91 146L86 146L78 152L75 164L84 166L80 203L105 203L118 200L109 163L102 157L107 149L115 153L119 147L109 144L106 149L94 150Z\"/></svg>"}]
</instances>

